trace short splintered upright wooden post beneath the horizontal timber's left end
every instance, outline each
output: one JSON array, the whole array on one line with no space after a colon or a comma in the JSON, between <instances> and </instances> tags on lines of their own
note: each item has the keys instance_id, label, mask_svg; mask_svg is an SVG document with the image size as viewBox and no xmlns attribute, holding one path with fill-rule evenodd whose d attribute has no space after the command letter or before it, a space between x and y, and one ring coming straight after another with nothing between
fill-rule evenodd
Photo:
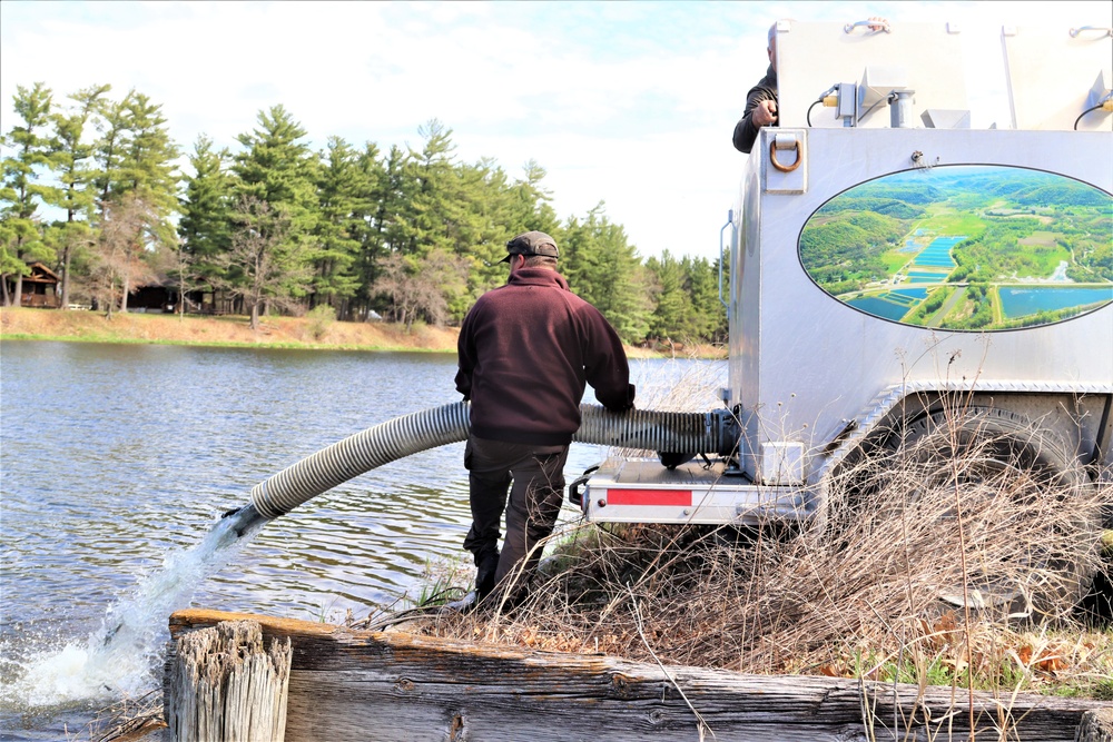
<instances>
[{"instance_id":1,"label":"short splintered upright wooden post beneath the horizontal timber's left end","mask_svg":"<svg viewBox=\"0 0 1113 742\"><path fill-rule=\"evenodd\" d=\"M178 742L283 742L293 652L263 646L256 621L180 634L166 670L166 721Z\"/></svg>"}]
</instances>

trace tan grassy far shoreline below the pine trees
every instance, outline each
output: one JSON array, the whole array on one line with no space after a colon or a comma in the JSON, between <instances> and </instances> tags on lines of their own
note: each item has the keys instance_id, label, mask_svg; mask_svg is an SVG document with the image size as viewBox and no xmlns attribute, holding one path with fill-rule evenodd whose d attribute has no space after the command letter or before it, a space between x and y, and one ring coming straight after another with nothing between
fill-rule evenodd
<instances>
[{"instance_id":1,"label":"tan grassy far shoreline below the pine trees","mask_svg":"<svg viewBox=\"0 0 1113 742\"><path fill-rule=\"evenodd\" d=\"M456 352L456 327L385 321L321 321L308 317L263 317L253 332L238 315L200 316L0 307L0 340L184 345L283 350L351 350L359 353ZM626 346L630 358L726 358L719 346L670 349ZM671 350L671 352L670 352Z\"/></svg>"}]
</instances>

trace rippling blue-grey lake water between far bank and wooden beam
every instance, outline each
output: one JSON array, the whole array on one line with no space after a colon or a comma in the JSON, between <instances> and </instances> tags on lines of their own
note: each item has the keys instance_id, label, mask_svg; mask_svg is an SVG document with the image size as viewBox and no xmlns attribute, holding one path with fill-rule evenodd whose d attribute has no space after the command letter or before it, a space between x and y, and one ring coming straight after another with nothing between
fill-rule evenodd
<instances>
[{"instance_id":1,"label":"rippling blue-grey lake water between far bank and wooden beam","mask_svg":"<svg viewBox=\"0 0 1113 742\"><path fill-rule=\"evenodd\" d=\"M647 399L692 364L631 366ZM723 384L725 364L711 367ZM67 729L85 739L96 710L157 687L168 613L154 616L148 653L135 666L114 661L98 687L67 679L71 655L111 606L142 610L150 577L248 503L256 483L372 425L457 400L454 373L455 357L435 354L0 345L0 740L60 740ZM573 445L567 475L605 453ZM427 451L318 496L167 611L343 620L413 595L427 564L469 556L462 454L463 444Z\"/></svg>"}]
</instances>

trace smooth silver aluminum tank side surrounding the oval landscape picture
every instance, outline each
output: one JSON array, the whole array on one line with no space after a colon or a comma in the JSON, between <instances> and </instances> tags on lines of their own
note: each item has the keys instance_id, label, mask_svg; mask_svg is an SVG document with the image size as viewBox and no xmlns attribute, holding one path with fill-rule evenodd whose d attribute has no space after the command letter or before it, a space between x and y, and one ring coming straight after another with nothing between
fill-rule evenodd
<instances>
[{"instance_id":1,"label":"smooth silver aluminum tank side surrounding the oval landscape picture","mask_svg":"<svg viewBox=\"0 0 1113 742\"><path fill-rule=\"evenodd\" d=\"M768 132L761 132L759 142ZM765 145L768 146L767 144ZM1101 132L968 129L812 129L804 194L755 194L747 164L740 296L731 311L731 400L742 407L746 453L770 441L812 452L886 389L972 387L978 380L1091 388L1113 379L1113 306L1054 325L979 334L904 326L823 291L797 240L825 201L867 180L922 164L1034 168L1113 190L1113 137ZM758 158L750 158L751 160ZM922 168L929 181L933 168ZM740 276L739 273L740 271ZM740 337L733 337L733 335ZM737 354L737 357L735 357ZM743 456L745 468L754 462ZM806 465L809 481L818 464Z\"/></svg>"}]
</instances>

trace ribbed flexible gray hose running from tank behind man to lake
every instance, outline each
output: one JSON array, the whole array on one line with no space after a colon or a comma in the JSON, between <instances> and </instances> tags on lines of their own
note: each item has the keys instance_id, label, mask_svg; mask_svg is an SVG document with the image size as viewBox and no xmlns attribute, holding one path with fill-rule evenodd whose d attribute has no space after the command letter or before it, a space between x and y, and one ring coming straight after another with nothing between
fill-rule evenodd
<instances>
[{"instance_id":1,"label":"ribbed flexible gray hose running from tank behind man to lake","mask_svg":"<svg viewBox=\"0 0 1113 742\"><path fill-rule=\"evenodd\" d=\"M266 518L285 515L302 503L383 464L427 448L467 439L471 405L456 402L395 417L351 435L284 468L252 488L252 504ZM706 413L634 409L609 413L580 405L580 443L670 453L719 451L719 429Z\"/></svg>"}]
</instances>

